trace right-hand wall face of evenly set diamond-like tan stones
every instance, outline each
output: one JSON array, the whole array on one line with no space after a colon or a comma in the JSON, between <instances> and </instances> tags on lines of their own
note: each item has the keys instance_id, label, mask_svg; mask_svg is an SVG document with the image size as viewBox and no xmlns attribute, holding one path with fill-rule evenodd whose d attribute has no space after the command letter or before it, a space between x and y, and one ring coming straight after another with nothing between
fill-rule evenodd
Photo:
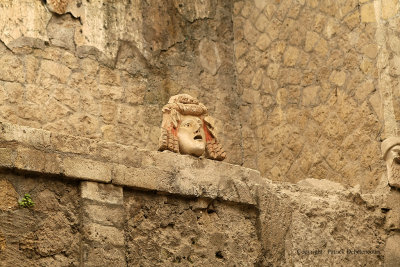
<instances>
[{"instance_id":1,"label":"right-hand wall face of evenly set diamond-like tan stones","mask_svg":"<svg viewBox=\"0 0 400 267\"><path fill-rule=\"evenodd\" d=\"M235 1L233 20L244 165L375 188L396 134L397 1Z\"/></svg>"}]
</instances>

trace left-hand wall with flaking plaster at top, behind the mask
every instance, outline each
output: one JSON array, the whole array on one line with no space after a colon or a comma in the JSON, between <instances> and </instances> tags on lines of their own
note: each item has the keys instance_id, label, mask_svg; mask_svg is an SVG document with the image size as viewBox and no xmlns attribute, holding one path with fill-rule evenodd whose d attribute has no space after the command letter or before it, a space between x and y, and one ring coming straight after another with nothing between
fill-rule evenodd
<instances>
[{"instance_id":1,"label":"left-hand wall with flaking plaster at top, behind the mask","mask_svg":"<svg viewBox=\"0 0 400 267\"><path fill-rule=\"evenodd\" d=\"M2 121L156 150L189 93L242 162L229 1L44 2L0 4Z\"/></svg>"}]
</instances>

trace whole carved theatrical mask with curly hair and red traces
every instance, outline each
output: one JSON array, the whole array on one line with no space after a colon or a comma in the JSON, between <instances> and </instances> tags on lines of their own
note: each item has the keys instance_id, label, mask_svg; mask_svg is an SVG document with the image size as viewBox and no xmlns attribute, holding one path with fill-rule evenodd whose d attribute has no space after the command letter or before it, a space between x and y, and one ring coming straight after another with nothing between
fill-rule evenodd
<instances>
[{"instance_id":1,"label":"whole carved theatrical mask with curly hair and red traces","mask_svg":"<svg viewBox=\"0 0 400 267\"><path fill-rule=\"evenodd\" d=\"M226 153L215 136L214 120L196 98L187 94L172 96L162 112L158 150L214 160L225 159Z\"/></svg>"}]
</instances>

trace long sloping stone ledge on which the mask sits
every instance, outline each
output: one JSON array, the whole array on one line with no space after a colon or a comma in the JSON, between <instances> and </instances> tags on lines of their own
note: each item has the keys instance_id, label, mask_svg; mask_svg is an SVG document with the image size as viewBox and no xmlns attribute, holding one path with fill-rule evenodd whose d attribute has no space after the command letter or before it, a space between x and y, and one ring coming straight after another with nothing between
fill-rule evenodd
<instances>
[{"instance_id":1,"label":"long sloping stone ledge on which the mask sits","mask_svg":"<svg viewBox=\"0 0 400 267\"><path fill-rule=\"evenodd\" d=\"M0 167L256 205L260 173L229 163L0 123Z\"/></svg>"}]
</instances>

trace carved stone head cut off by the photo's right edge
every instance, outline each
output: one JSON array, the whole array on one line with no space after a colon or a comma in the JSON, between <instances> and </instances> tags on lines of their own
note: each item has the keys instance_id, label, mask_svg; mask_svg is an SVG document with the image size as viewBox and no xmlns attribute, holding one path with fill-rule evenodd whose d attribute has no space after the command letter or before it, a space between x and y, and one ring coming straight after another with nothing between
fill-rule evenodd
<instances>
[{"instance_id":1,"label":"carved stone head cut off by the photo's right edge","mask_svg":"<svg viewBox=\"0 0 400 267\"><path fill-rule=\"evenodd\" d=\"M400 189L400 137L389 137L381 145L389 185Z\"/></svg>"}]
</instances>

